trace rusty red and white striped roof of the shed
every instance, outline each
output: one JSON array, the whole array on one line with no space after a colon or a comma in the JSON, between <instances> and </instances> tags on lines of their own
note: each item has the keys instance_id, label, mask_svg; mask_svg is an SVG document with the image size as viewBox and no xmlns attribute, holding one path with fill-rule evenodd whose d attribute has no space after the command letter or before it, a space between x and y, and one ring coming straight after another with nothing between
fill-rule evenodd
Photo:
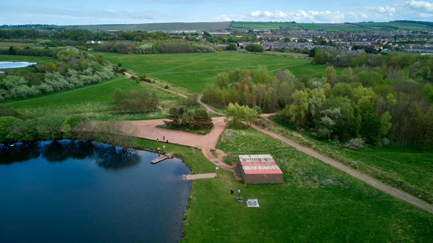
<instances>
[{"instance_id":1,"label":"rusty red and white striped roof of the shed","mask_svg":"<svg viewBox=\"0 0 433 243\"><path fill-rule=\"evenodd\" d=\"M270 154L238 155L245 174L282 174L274 158Z\"/></svg>"}]
</instances>

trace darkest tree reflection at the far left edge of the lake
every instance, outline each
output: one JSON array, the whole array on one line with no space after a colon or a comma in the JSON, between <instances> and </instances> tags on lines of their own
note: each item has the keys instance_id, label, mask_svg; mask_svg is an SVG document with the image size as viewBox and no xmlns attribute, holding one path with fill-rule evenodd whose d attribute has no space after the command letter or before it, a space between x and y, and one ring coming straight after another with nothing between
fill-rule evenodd
<instances>
[{"instance_id":1,"label":"darkest tree reflection at the far left edge of the lake","mask_svg":"<svg viewBox=\"0 0 433 243\"><path fill-rule=\"evenodd\" d=\"M15 162L23 162L32 158L38 158L39 144L36 142L14 144L0 144L0 164L12 164Z\"/></svg>"}]
</instances>

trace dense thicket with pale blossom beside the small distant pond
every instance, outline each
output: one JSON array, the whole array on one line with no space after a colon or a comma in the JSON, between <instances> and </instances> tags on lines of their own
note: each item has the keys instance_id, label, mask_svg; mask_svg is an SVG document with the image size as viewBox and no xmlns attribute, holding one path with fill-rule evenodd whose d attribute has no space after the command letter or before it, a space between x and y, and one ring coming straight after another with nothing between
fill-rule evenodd
<instances>
[{"instance_id":1,"label":"dense thicket with pale blossom beside the small distant pond","mask_svg":"<svg viewBox=\"0 0 433 243\"><path fill-rule=\"evenodd\" d=\"M31 55L39 51L28 48L15 52L18 53ZM0 101L47 94L115 77L113 67L102 57L73 50L49 51L46 54L54 55L56 59L44 65L32 65L19 75L0 74Z\"/></svg>"}]
</instances>

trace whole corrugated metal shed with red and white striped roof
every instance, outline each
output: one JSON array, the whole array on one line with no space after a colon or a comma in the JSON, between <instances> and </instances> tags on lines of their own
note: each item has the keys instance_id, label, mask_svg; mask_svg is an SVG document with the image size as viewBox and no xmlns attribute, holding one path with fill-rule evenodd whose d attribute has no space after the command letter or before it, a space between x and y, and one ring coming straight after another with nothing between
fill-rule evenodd
<instances>
[{"instance_id":1,"label":"whole corrugated metal shed with red and white striped roof","mask_svg":"<svg viewBox=\"0 0 433 243\"><path fill-rule=\"evenodd\" d=\"M238 155L238 165L246 184L283 183L283 172L270 154Z\"/></svg>"}]
</instances>

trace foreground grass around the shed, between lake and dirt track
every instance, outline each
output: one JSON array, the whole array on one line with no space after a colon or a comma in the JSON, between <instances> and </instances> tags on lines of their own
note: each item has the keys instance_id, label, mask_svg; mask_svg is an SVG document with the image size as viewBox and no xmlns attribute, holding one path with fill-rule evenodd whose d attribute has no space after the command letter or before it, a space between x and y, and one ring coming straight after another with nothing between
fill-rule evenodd
<instances>
[{"instance_id":1,"label":"foreground grass around the shed, between lake and dirt track","mask_svg":"<svg viewBox=\"0 0 433 243\"><path fill-rule=\"evenodd\" d=\"M284 183L244 185L230 171L215 171L200 150L169 144L166 152L182 157L192 173L218 175L192 182L182 242L431 242L431 214L252 128L231 132L225 152L271 153ZM231 188L260 207L235 201Z\"/></svg>"}]
</instances>

